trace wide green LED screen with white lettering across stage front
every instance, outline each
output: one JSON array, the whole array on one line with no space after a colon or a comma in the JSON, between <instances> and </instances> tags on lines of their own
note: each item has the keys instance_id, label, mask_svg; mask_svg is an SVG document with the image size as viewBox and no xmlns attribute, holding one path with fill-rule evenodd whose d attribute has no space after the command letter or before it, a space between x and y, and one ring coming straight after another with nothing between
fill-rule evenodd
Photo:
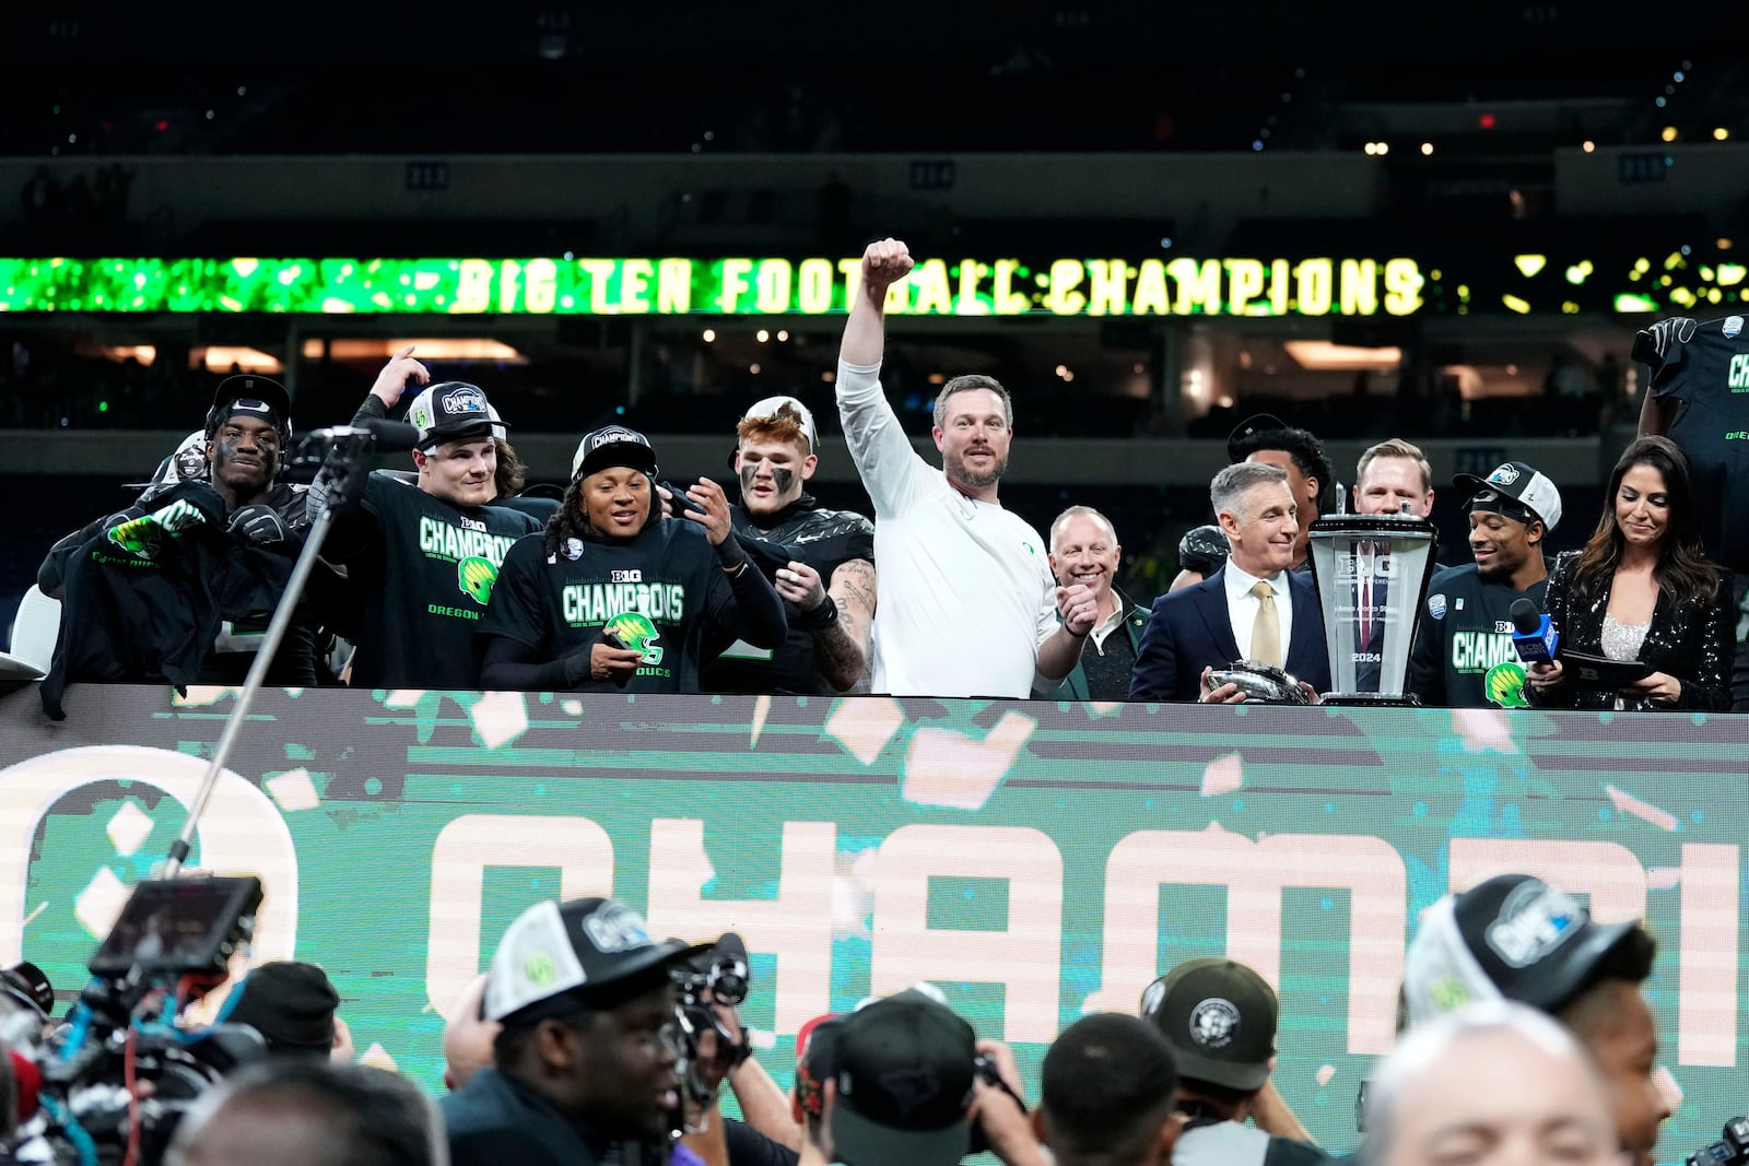
<instances>
[{"instance_id":1,"label":"wide green LED screen with white lettering across stage front","mask_svg":"<svg viewBox=\"0 0 1749 1166\"><path fill-rule=\"evenodd\" d=\"M84 982L229 708L0 698L0 960ZM194 864L259 874L254 958L325 967L360 1054L432 1087L442 1012L540 897L740 932L784 1084L801 1024L869 993L932 981L1030 1072L1083 1010L1230 953L1279 986L1279 1086L1333 1147L1418 913L1529 871L1658 935L1681 1161L1749 1108L1744 757L1749 717L1676 713L269 691Z\"/></svg>"}]
</instances>

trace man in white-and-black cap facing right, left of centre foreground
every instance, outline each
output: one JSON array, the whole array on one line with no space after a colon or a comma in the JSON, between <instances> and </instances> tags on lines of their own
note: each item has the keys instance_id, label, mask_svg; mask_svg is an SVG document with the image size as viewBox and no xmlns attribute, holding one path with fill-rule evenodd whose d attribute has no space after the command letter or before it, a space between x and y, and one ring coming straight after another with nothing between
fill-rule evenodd
<instances>
[{"instance_id":1,"label":"man in white-and-black cap facing right, left of centre foreground","mask_svg":"<svg viewBox=\"0 0 1749 1166\"><path fill-rule=\"evenodd\" d=\"M693 951L617 899L518 916L486 977L493 1065L441 1101L455 1166L661 1161L680 1105L670 970Z\"/></svg>"}]
</instances>

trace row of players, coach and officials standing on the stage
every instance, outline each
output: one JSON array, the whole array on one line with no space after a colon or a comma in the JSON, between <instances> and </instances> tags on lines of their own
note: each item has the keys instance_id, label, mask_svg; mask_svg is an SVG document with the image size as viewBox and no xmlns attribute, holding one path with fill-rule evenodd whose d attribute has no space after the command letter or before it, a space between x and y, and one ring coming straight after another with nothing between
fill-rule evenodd
<instances>
[{"instance_id":1,"label":"row of players, coach and officials standing on the stage","mask_svg":"<svg viewBox=\"0 0 1749 1166\"><path fill-rule=\"evenodd\" d=\"M728 489L665 482L649 437L623 425L582 437L563 491L525 489L486 392L434 381L408 348L353 423L388 418L416 388L415 468L378 470L339 496L320 477L308 489L283 481L285 390L224 381L205 432L152 488L42 565L38 586L65 600L51 713L66 682L236 684L303 531L331 503L278 684L1258 699L1224 680L1244 663L1315 701L1354 671L1329 650L1333 603L1310 554L1313 521L1350 500L1331 505L1336 474L1313 434L1273 416L1233 432L1231 465L1210 482L1216 523L1186 537L1184 570L1142 607L1114 586L1121 542L1104 514L1070 505L1044 538L1004 509L1014 414L999 381L946 381L930 430L939 465L916 453L880 381L885 295L911 262L897 239L868 246L834 379L871 516L808 493L819 430L794 397L745 411ZM1744 462L1716 432L1740 409L1712 383L1740 322L1726 325L1667 320L1642 334L1642 437L1616 463L1583 551L1548 561L1562 502L1536 467L1453 477L1473 561L1432 573L1420 610L1420 579L1357 584L1345 610L1362 687L1380 684L1382 636L1413 617L1418 636L1397 633L1411 656L1399 687L1425 704L1749 708L1735 615L1749 540L1719 514ZM1417 446L1362 453L1354 514L1425 519L1432 496ZM1385 572L1389 554L1376 559ZM1546 610L1565 645L1548 661L1515 647L1518 601Z\"/></svg>"}]
</instances>

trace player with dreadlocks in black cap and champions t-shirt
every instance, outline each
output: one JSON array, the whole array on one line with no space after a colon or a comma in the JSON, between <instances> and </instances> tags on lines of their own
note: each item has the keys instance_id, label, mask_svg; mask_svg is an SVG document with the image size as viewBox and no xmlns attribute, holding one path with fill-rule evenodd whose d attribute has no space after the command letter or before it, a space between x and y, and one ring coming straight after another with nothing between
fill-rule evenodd
<instances>
[{"instance_id":1,"label":"player with dreadlocks in black cap and champions t-shirt","mask_svg":"<svg viewBox=\"0 0 1749 1166\"><path fill-rule=\"evenodd\" d=\"M479 626L488 689L698 692L707 633L775 649L784 601L733 537L722 488L665 519L656 453L609 425L572 458L570 488L540 535L504 556Z\"/></svg>"}]
</instances>

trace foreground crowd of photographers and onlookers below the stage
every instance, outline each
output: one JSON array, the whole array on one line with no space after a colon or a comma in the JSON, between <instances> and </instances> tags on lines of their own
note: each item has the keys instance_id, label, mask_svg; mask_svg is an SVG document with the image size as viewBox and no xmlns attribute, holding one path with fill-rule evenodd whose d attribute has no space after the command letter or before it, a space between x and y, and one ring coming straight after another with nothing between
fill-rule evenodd
<instances>
[{"instance_id":1,"label":"foreground crowd of photographers and onlookers below the stage","mask_svg":"<svg viewBox=\"0 0 1749 1166\"><path fill-rule=\"evenodd\" d=\"M726 982L707 970L729 951L733 1002L696 988ZM1639 923L1597 923L1532 876L1438 900L1404 960L1399 1044L1357 1098L1354 1154L1651 1166L1670 1115L1641 989L1655 954ZM1277 1087L1291 1024L1275 989L1226 956L1139 984L1130 1014L1067 1024L1030 1080L925 982L808 1021L785 1091L752 1056L745 991L738 937L658 940L616 899L535 902L446 1010L434 1100L357 1063L320 967L264 963L217 1019L259 1037L255 1054L196 1098L164 1161L951 1166L988 1150L1007 1166L1319 1166L1348 1149L1319 1145ZM65 1121L40 1063L66 1021L12 995L0 1009L49 1033L0 1058L30 1082L9 1093L0 1156L38 1161L31 1147ZM738 1119L722 1114L724 1084Z\"/></svg>"}]
</instances>

